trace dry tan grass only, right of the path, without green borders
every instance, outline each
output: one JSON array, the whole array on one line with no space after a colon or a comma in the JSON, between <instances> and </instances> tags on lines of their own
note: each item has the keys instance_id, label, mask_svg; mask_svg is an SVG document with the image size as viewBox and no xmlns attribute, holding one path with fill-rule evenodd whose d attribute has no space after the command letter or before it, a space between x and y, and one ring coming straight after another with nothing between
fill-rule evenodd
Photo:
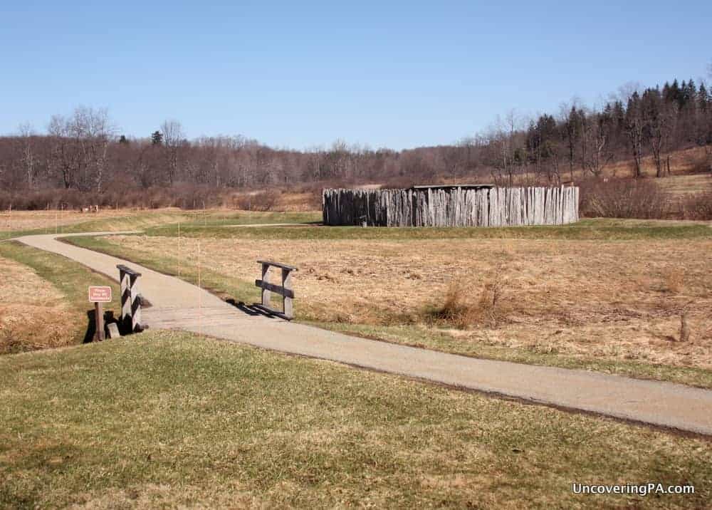
<instances>
[{"instance_id":1,"label":"dry tan grass only, right of the path, without green borders","mask_svg":"<svg viewBox=\"0 0 712 510\"><path fill-rule=\"evenodd\" d=\"M110 241L178 256L165 251L174 239ZM182 264L195 264L196 248L197 239L182 240ZM434 327L431 311L444 308L455 281L462 290L450 296L449 333L461 342L698 368L712 368L711 252L708 239L201 239L204 267L228 279L254 281L258 259L298 266L300 318ZM500 267L506 284L495 299ZM483 306L493 301L494 320ZM691 330L684 344L683 307Z\"/></svg>"}]
</instances>

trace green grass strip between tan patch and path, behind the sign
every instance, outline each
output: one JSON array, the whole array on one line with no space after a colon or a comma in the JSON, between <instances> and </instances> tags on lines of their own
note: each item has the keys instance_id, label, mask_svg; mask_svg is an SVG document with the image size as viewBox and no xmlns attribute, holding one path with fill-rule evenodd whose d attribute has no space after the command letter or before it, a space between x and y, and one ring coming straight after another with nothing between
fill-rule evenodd
<instances>
[{"instance_id":1,"label":"green grass strip between tan patch and path, behind the sign","mask_svg":"<svg viewBox=\"0 0 712 510\"><path fill-rule=\"evenodd\" d=\"M31 248L16 241L1 243L0 257L30 267L38 276L46 280L48 285L55 286L62 293L68 304L66 317L68 343L80 343L84 340L88 325L87 311L93 309L93 305L88 301L88 286L111 286L112 302L104 303L104 310L113 310L117 314L120 309L118 283L66 257ZM0 288L2 288L1 282Z\"/></svg>"}]
</instances>

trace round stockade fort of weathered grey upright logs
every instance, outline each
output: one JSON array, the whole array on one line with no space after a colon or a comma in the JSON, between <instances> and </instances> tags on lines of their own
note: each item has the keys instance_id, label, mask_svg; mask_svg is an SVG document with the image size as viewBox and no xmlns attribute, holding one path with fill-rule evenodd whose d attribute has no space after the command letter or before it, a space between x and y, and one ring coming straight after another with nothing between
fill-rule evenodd
<instances>
[{"instance_id":1,"label":"round stockade fort of weathered grey upright logs","mask_svg":"<svg viewBox=\"0 0 712 510\"><path fill-rule=\"evenodd\" d=\"M324 224L363 227L506 227L577 222L577 187L444 184L324 189Z\"/></svg>"}]
</instances>

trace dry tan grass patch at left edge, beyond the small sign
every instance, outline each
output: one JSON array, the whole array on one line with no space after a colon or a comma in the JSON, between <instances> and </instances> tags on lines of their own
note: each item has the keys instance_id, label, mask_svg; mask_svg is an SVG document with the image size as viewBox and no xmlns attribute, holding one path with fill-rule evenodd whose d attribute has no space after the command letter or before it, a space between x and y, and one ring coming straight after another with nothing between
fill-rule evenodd
<instances>
[{"instance_id":1,"label":"dry tan grass patch at left edge, beyond the small sign","mask_svg":"<svg viewBox=\"0 0 712 510\"><path fill-rule=\"evenodd\" d=\"M62 294L32 269L0 258L0 353L66 345Z\"/></svg>"}]
</instances>

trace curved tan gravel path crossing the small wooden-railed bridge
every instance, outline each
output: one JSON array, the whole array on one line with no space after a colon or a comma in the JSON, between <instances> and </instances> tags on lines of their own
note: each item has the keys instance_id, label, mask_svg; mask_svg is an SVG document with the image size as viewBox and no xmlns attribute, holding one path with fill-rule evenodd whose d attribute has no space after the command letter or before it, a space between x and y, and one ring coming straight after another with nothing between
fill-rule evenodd
<instances>
[{"instance_id":1,"label":"curved tan gravel path crossing the small wooden-railed bridge","mask_svg":"<svg viewBox=\"0 0 712 510\"><path fill-rule=\"evenodd\" d=\"M117 232L72 235L102 234ZM712 435L712 390L583 370L480 360L252 316L191 283L57 239L66 236L23 236L17 240L66 256L112 279L118 276L117 264L140 271L140 291L153 305L143 311L145 323L151 328L182 329L284 353Z\"/></svg>"}]
</instances>

